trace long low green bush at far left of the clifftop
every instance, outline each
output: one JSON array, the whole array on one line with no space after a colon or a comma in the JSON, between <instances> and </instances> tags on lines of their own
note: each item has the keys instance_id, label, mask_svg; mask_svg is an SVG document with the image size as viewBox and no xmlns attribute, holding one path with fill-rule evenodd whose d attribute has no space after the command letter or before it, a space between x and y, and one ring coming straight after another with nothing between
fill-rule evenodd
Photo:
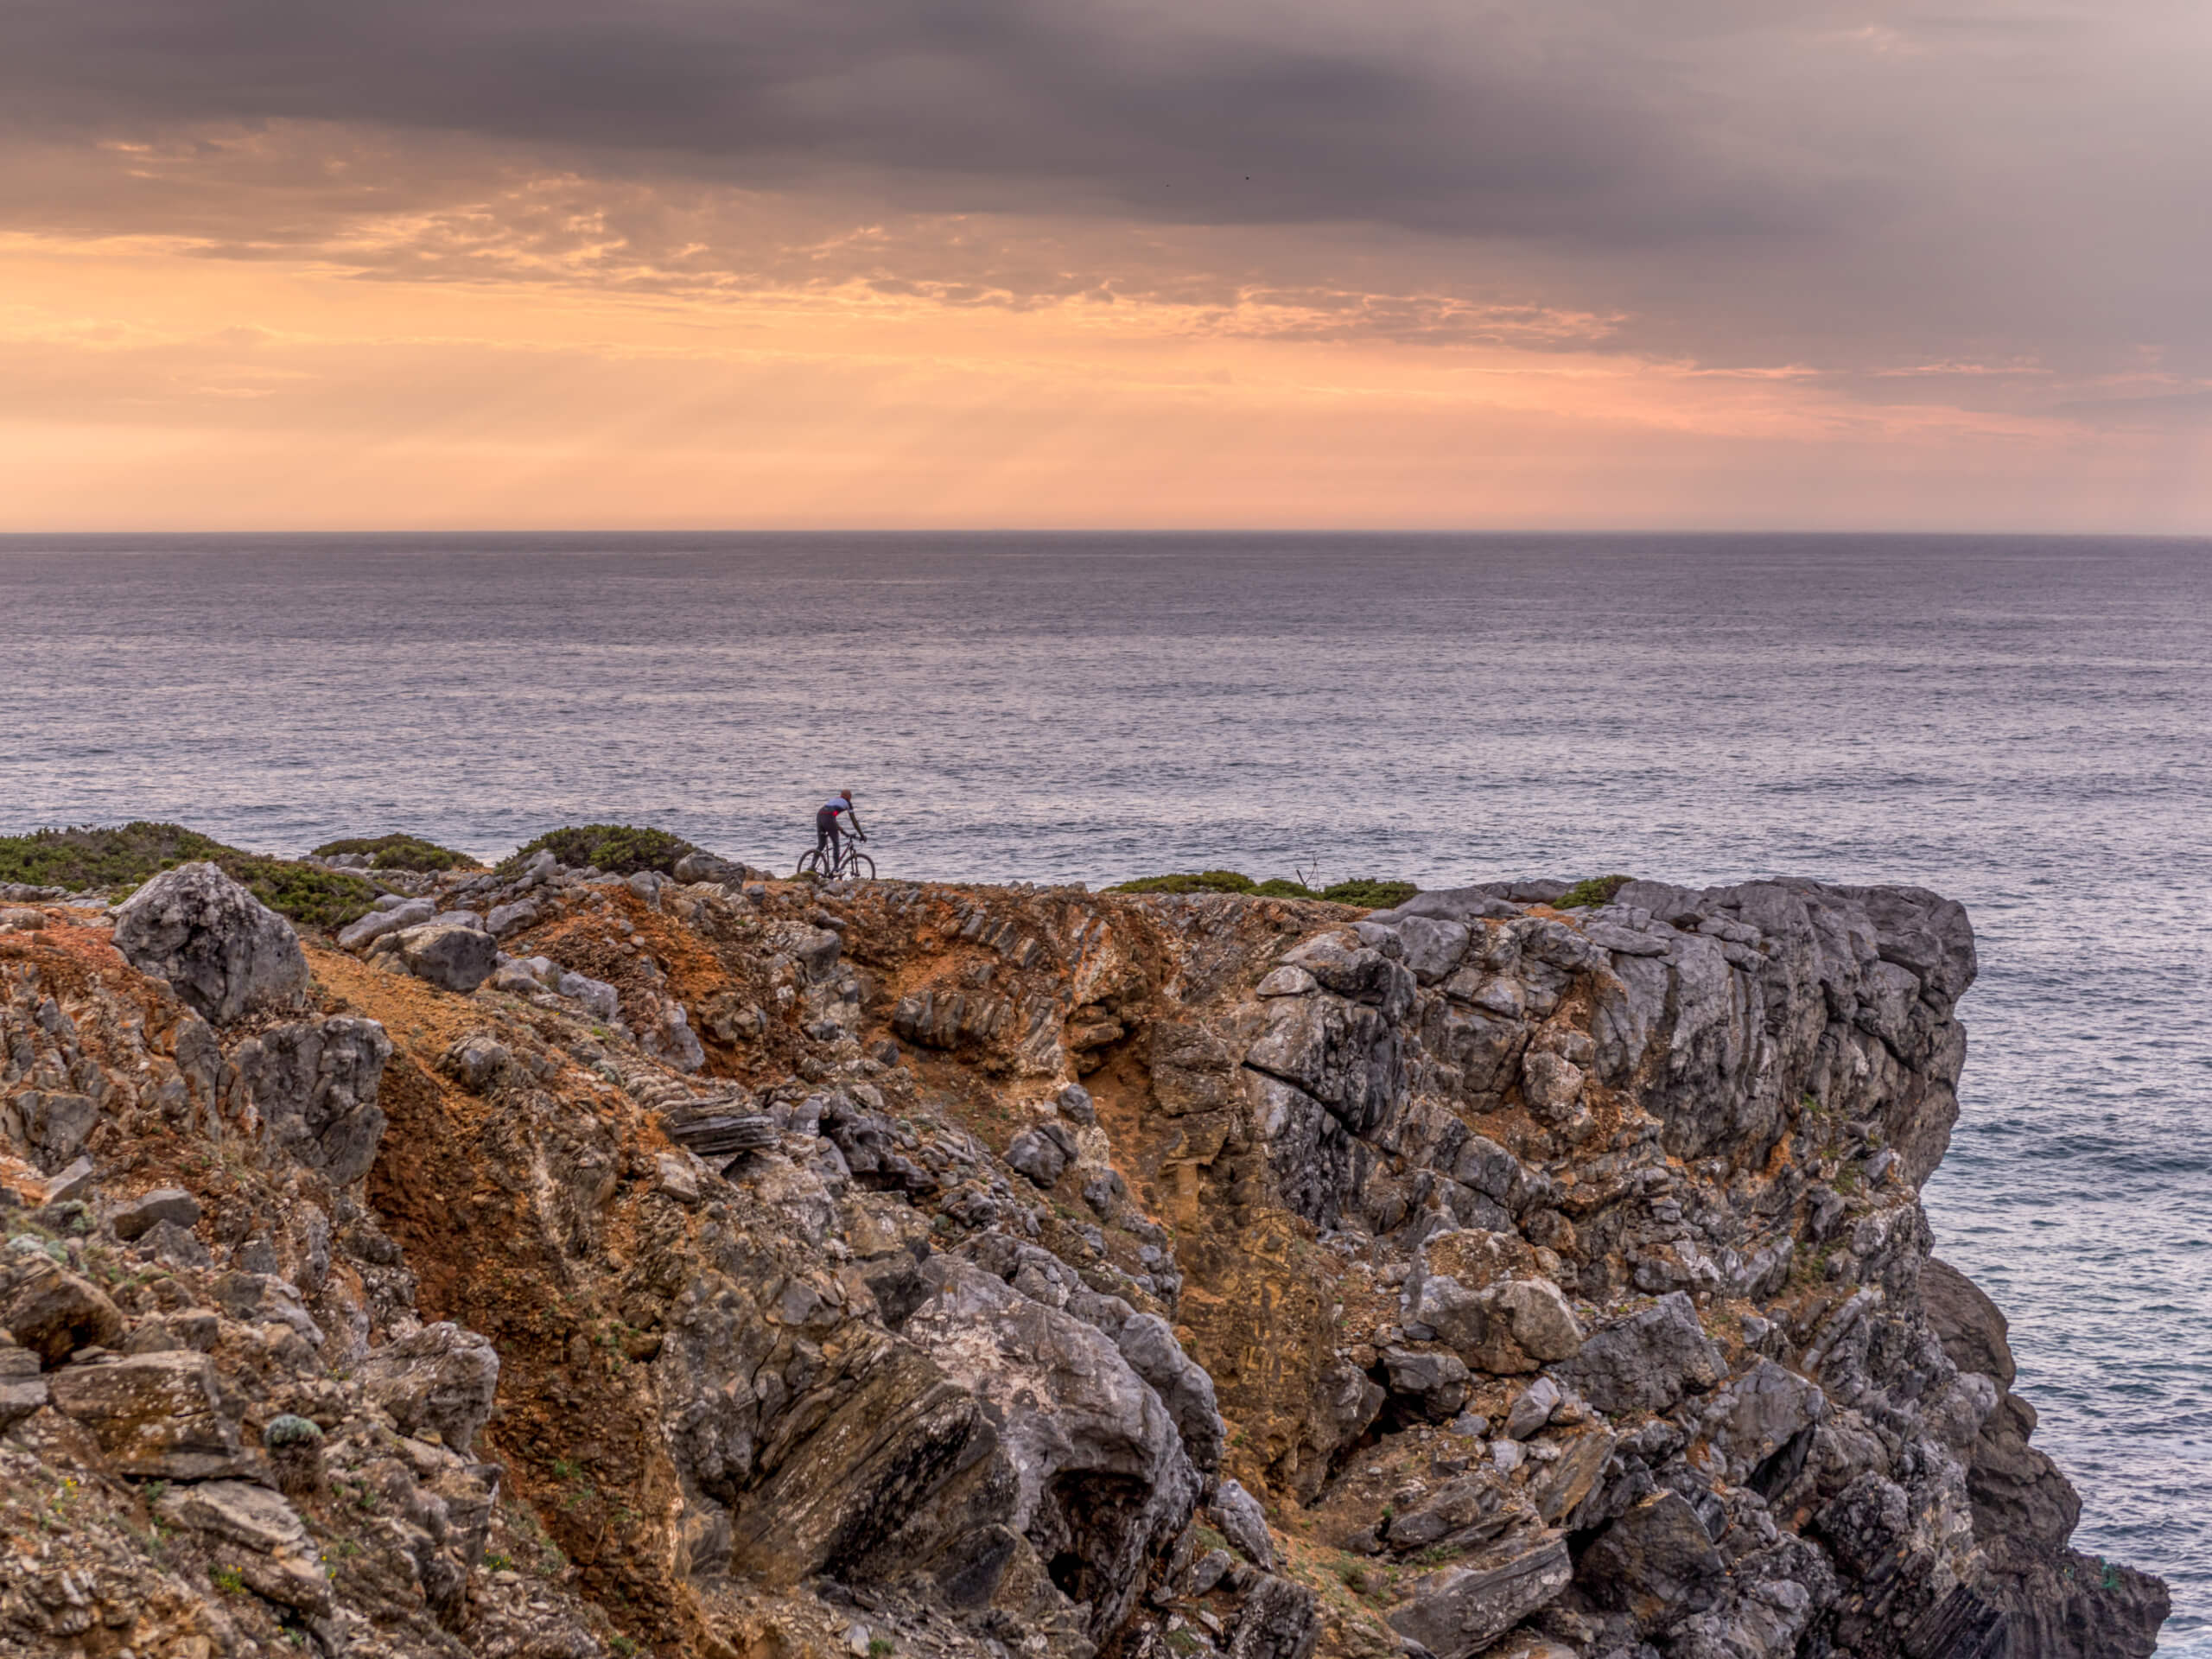
<instances>
[{"instance_id":1,"label":"long low green bush at far left of the clifftop","mask_svg":"<svg viewBox=\"0 0 2212 1659\"><path fill-rule=\"evenodd\" d=\"M201 860L301 927L345 927L376 902L376 889L361 876L239 852L177 823L73 825L0 836L0 880L33 887L126 894L164 869Z\"/></svg>"}]
</instances>

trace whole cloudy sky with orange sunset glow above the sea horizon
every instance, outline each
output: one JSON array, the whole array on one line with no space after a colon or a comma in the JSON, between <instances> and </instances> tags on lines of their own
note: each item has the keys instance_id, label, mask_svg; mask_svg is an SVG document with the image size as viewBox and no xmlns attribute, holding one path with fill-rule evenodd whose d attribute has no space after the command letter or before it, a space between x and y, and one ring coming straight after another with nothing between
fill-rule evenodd
<instances>
[{"instance_id":1,"label":"whole cloudy sky with orange sunset glow above the sea horizon","mask_svg":"<svg viewBox=\"0 0 2212 1659\"><path fill-rule=\"evenodd\" d=\"M9 0L0 531L2212 533L2203 0Z\"/></svg>"}]
</instances>

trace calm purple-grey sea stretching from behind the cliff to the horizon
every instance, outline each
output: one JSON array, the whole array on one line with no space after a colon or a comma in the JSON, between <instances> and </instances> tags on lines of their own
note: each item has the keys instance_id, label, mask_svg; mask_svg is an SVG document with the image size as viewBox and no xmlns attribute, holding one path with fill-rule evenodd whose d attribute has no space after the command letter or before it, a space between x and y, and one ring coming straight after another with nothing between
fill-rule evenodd
<instances>
[{"instance_id":1,"label":"calm purple-grey sea stretching from behind the cliff to the horizon","mask_svg":"<svg viewBox=\"0 0 2212 1659\"><path fill-rule=\"evenodd\" d=\"M2212 1655L2212 544L0 538L0 832L1962 898L1940 1250Z\"/></svg>"}]
</instances>

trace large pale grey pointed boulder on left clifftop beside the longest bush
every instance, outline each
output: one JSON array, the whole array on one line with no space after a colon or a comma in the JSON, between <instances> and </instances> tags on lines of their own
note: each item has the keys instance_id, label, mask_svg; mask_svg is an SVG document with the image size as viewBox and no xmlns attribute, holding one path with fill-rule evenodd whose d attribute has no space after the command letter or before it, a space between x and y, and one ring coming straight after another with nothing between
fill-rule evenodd
<instances>
[{"instance_id":1,"label":"large pale grey pointed boulder on left clifftop beside the longest bush","mask_svg":"<svg viewBox=\"0 0 2212 1659\"><path fill-rule=\"evenodd\" d=\"M299 933L215 865L164 869L131 894L115 914L115 949L215 1024L307 989Z\"/></svg>"}]
</instances>

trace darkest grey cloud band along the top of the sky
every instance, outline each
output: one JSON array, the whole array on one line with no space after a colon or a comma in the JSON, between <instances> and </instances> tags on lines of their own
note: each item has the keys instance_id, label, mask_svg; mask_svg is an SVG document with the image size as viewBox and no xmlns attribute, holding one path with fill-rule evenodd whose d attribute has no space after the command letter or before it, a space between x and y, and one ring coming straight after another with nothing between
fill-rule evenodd
<instances>
[{"instance_id":1,"label":"darkest grey cloud band along the top of the sky","mask_svg":"<svg viewBox=\"0 0 2212 1659\"><path fill-rule=\"evenodd\" d=\"M1694 7L1690 9L1694 11ZM1688 13L1686 13L1688 15ZM1683 119L1628 7L1040 0L15 0L0 106L42 131L341 119L909 206L1365 219L1637 243L1805 215L1834 168Z\"/></svg>"}]
</instances>

